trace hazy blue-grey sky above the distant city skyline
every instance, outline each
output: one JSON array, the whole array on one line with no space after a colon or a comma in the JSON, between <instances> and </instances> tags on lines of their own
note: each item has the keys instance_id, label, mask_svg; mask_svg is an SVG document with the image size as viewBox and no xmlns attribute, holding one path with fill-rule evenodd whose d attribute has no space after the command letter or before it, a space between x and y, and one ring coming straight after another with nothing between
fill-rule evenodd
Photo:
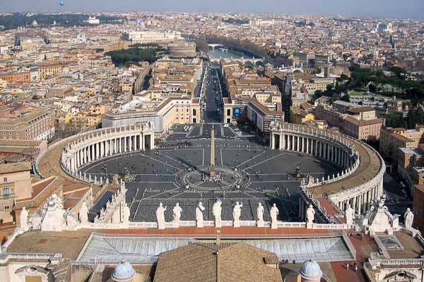
<instances>
[{"instance_id":1,"label":"hazy blue-grey sky above the distant city skyline","mask_svg":"<svg viewBox=\"0 0 424 282\"><path fill-rule=\"evenodd\" d=\"M0 11L220 11L424 18L424 0L0 0Z\"/></svg>"}]
</instances>

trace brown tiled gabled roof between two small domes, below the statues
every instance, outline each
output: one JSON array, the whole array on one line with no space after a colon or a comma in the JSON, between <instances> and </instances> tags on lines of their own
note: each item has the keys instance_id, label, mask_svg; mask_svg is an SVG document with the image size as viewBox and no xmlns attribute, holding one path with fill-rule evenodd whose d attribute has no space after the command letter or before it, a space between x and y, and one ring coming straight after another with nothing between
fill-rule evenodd
<instances>
[{"instance_id":1,"label":"brown tiled gabled roof between two small domes, below the statues","mask_svg":"<svg viewBox=\"0 0 424 282\"><path fill-rule=\"evenodd\" d=\"M276 255L242 243L219 251L195 243L161 254L155 282L282 281L278 269L266 266L268 257Z\"/></svg>"}]
</instances>

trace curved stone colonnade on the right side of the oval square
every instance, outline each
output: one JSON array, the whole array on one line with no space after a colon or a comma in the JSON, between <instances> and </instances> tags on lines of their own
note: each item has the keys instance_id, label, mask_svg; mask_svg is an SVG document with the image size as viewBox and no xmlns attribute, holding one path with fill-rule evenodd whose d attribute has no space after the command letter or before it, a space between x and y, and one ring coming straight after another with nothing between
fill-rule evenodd
<instances>
[{"instance_id":1,"label":"curved stone colonnade on the right side of the oval square","mask_svg":"<svg viewBox=\"0 0 424 282\"><path fill-rule=\"evenodd\" d=\"M307 197L300 200L301 219L305 219L307 205L316 205L319 197L328 197L341 211L351 204L356 214L365 214L370 203L382 196L386 166L379 153L364 142L290 123L273 123L270 139L271 149L309 154L340 168L339 173L326 179L309 177L302 183Z\"/></svg>"}]
</instances>

